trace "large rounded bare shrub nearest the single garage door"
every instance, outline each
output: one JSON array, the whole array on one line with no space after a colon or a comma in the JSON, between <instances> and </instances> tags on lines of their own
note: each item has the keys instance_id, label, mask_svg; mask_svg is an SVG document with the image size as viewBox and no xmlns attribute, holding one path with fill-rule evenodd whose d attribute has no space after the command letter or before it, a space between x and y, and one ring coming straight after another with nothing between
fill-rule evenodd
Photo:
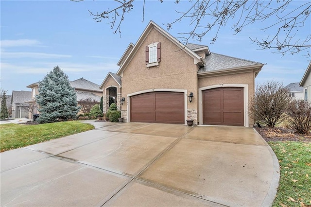
<instances>
[{"instance_id":1,"label":"large rounded bare shrub nearest the single garage door","mask_svg":"<svg viewBox=\"0 0 311 207\"><path fill-rule=\"evenodd\" d=\"M276 81L258 85L253 102L249 106L250 117L259 123L274 127L285 118L291 98L289 89Z\"/></svg>"}]
</instances>

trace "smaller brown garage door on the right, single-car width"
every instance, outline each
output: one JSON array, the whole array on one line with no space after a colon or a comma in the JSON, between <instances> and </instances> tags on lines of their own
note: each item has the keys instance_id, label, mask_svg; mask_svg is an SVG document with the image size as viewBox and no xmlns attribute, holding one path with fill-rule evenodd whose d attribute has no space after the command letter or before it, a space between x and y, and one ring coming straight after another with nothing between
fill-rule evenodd
<instances>
[{"instance_id":1,"label":"smaller brown garage door on the right, single-car width","mask_svg":"<svg viewBox=\"0 0 311 207\"><path fill-rule=\"evenodd\" d=\"M203 91L203 124L244 125L243 88L222 87Z\"/></svg>"}]
</instances>

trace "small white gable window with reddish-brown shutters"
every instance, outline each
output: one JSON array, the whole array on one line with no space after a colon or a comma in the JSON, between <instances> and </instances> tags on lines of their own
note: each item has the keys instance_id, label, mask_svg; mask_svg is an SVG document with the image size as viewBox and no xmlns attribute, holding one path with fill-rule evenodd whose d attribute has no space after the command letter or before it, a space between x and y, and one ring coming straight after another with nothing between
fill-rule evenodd
<instances>
[{"instance_id":1,"label":"small white gable window with reddish-brown shutters","mask_svg":"<svg viewBox=\"0 0 311 207\"><path fill-rule=\"evenodd\" d=\"M154 42L146 46L147 67L158 66L161 61L161 43Z\"/></svg>"}]
</instances>

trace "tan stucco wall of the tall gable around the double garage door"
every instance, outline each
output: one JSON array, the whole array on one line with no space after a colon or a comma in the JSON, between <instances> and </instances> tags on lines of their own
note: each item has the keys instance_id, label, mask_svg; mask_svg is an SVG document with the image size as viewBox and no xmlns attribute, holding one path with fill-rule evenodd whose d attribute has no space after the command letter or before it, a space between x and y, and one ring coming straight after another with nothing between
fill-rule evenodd
<instances>
[{"instance_id":1,"label":"tan stucco wall of the tall gable around the double garage door","mask_svg":"<svg viewBox=\"0 0 311 207\"><path fill-rule=\"evenodd\" d=\"M161 42L161 62L159 66L146 67L145 47L153 42ZM180 50L171 40L152 29L122 74L122 96L149 89L197 90L197 69L194 60ZM188 108L196 104L188 103ZM126 104L122 105L126 109Z\"/></svg>"}]
</instances>

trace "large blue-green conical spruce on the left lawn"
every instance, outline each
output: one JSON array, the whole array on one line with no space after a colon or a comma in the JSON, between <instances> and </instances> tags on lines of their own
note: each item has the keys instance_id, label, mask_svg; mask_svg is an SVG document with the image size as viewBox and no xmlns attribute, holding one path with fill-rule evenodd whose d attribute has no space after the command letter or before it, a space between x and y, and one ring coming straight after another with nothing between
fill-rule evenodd
<instances>
[{"instance_id":1,"label":"large blue-green conical spruce on the left lawn","mask_svg":"<svg viewBox=\"0 0 311 207\"><path fill-rule=\"evenodd\" d=\"M70 86L68 76L58 66L39 83L36 102L39 105L39 123L67 121L76 118L79 111L77 94Z\"/></svg>"}]
</instances>

